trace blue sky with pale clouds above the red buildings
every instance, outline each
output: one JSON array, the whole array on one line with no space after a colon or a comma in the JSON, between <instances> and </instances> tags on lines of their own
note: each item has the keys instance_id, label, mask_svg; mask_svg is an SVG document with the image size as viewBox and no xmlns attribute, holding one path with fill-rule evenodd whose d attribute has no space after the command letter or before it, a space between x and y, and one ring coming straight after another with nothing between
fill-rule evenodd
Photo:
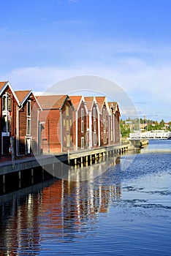
<instances>
[{"instance_id":1,"label":"blue sky with pale clouds above the red buildings","mask_svg":"<svg viewBox=\"0 0 171 256\"><path fill-rule=\"evenodd\" d=\"M140 117L171 121L170 10L170 0L1 1L0 80L45 91L96 75L118 83Z\"/></svg>"}]
</instances>

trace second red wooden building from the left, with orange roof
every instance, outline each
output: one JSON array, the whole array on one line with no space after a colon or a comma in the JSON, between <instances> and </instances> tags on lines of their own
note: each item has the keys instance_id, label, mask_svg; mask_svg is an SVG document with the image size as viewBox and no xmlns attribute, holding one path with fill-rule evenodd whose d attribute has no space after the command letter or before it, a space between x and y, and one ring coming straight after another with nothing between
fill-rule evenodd
<instances>
[{"instance_id":1,"label":"second red wooden building from the left, with orange roof","mask_svg":"<svg viewBox=\"0 0 171 256\"><path fill-rule=\"evenodd\" d=\"M38 153L39 102L32 91L15 91L19 107L16 118L17 156Z\"/></svg>"}]
</instances>

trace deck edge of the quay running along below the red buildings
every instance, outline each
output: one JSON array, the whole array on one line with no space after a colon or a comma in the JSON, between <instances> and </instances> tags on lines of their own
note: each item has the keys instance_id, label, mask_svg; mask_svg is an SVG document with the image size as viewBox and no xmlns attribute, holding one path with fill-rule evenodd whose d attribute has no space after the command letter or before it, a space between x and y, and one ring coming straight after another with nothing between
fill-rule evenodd
<instances>
[{"instance_id":1,"label":"deck edge of the quay running along below the red buildings","mask_svg":"<svg viewBox=\"0 0 171 256\"><path fill-rule=\"evenodd\" d=\"M0 176L6 175L9 173L20 172L21 170L28 170L34 167L45 166L45 165L53 165L53 163L57 162L67 162L69 165L71 161L76 159L80 159L83 157L104 157L104 156L113 156L118 157L121 154L124 154L128 150L132 150L134 147L130 146L129 141L126 143L122 143L121 145L116 146L104 146L101 148L94 149L86 149L75 152L67 152L67 153L58 153L58 154L42 154L37 157L28 157L23 159L17 159L13 162L0 162Z\"/></svg>"}]
</instances>

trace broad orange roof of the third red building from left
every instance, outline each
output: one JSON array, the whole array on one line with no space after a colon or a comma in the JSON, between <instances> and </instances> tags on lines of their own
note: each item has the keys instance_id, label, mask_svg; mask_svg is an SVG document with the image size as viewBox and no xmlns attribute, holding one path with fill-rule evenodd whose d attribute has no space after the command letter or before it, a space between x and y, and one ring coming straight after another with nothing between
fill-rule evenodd
<instances>
[{"instance_id":1,"label":"broad orange roof of the third red building from left","mask_svg":"<svg viewBox=\"0 0 171 256\"><path fill-rule=\"evenodd\" d=\"M37 96L39 105L43 110L45 109L62 109L64 108L66 100L69 99L68 95L44 95Z\"/></svg>"}]
</instances>

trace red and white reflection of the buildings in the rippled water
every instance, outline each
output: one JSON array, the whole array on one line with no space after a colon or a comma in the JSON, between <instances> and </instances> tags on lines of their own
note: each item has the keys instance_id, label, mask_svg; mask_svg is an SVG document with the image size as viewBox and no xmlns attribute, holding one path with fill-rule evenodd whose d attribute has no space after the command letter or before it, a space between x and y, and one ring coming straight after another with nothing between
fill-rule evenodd
<instances>
[{"instance_id":1,"label":"red and white reflection of the buildings in the rippled water","mask_svg":"<svg viewBox=\"0 0 171 256\"><path fill-rule=\"evenodd\" d=\"M71 170L68 181L54 180L38 192L2 203L0 255L39 255L43 244L71 242L94 229L99 214L107 214L120 199L121 185L94 181L91 171L87 181L81 181L79 169Z\"/></svg>"}]
</instances>

